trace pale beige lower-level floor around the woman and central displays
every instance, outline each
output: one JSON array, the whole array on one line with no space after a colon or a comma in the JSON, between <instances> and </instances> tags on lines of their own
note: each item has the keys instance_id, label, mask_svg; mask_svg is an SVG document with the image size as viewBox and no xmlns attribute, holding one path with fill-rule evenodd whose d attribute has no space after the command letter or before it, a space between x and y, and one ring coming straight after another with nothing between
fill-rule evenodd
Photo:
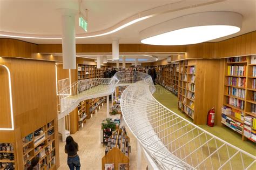
<instances>
[{"instance_id":1,"label":"pale beige lower-level floor around the woman and central displays","mask_svg":"<svg viewBox=\"0 0 256 170\"><path fill-rule=\"evenodd\" d=\"M97 169L102 167L102 157L104 156L105 147L100 144L100 124L102 120L106 118L106 103L104 106L97 110L97 113L93 114L93 117L86 120L86 124L82 130L76 134L72 134L72 137L78 143L81 168L85 170ZM122 124L124 120L122 120ZM137 142L136 138L132 135L129 129L126 127L127 133L131 142L131 155L130 155L130 169L137 169ZM64 152L65 142L59 140L59 156L60 167L58 169L69 169L66 160L67 155ZM142 158L142 169L146 169L146 162Z\"/></svg>"}]
</instances>

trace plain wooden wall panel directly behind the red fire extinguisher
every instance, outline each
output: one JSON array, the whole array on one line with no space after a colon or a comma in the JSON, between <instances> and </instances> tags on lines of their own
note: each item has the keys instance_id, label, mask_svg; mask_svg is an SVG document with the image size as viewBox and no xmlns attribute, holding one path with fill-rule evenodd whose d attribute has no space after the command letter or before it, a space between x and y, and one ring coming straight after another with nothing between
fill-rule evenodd
<instances>
[{"instance_id":1,"label":"plain wooden wall panel directly behind the red fire extinguisher","mask_svg":"<svg viewBox=\"0 0 256 170\"><path fill-rule=\"evenodd\" d=\"M188 60L188 65L190 60ZM195 124L206 124L207 113L215 107L215 122L221 119L221 108L223 87L220 83L223 80L224 59L200 59L196 63L196 101L195 101Z\"/></svg>"}]
</instances>

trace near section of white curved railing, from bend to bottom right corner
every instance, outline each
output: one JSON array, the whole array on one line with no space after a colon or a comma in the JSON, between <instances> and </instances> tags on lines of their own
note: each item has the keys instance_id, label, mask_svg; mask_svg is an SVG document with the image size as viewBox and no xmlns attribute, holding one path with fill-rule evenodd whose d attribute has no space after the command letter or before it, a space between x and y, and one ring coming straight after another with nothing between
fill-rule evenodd
<instances>
[{"instance_id":1,"label":"near section of white curved railing, from bend to bottom right corner","mask_svg":"<svg viewBox=\"0 0 256 170\"><path fill-rule=\"evenodd\" d=\"M153 98L144 81L122 93L131 132L159 169L255 169L256 157L190 123Z\"/></svg>"}]
</instances>

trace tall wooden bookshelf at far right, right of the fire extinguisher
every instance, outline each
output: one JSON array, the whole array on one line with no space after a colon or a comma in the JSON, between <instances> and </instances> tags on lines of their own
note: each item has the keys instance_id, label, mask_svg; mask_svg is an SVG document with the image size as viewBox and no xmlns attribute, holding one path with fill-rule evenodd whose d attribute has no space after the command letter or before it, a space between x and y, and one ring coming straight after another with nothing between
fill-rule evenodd
<instances>
[{"instance_id":1,"label":"tall wooden bookshelf at far right, right of the fire extinguisher","mask_svg":"<svg viewBox=\"0 0 256 170\"><path fill-rule=\"evenodd\" d=\"M227 58L221 123L256 142L256 64L251 56ZM255 122L253 124L253 121Z\"/></svg>"}]
</instances>

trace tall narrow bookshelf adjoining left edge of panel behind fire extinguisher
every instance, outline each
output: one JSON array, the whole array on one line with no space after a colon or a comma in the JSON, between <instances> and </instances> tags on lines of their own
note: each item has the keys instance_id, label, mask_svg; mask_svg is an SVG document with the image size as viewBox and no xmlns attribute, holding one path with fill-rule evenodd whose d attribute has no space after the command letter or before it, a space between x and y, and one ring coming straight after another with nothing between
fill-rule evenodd
<instances>
[{"instance_id":1,"label":"tall narrow bookshelf adjoining left edge of panel behind fire extinguisher","mask_svg":"<svg viewBox=\"0 0 256 170\"><path fill-rule=\"evenodd\" d=\"M195 89L196 65L188 65L187 60L181 61L179 65L178 108L193 120L195 113Z\"/></svg>"}]
</instances>

